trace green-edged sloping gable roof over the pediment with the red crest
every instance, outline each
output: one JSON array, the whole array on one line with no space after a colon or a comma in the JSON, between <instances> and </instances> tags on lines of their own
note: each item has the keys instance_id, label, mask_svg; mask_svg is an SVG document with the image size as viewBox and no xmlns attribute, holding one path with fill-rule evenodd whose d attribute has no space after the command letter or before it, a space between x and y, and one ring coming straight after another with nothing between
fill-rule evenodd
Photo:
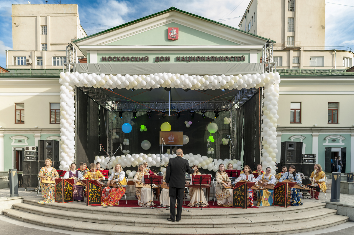
<instances>
[{"instance_id":1,"label":"green-edged sloping gable roof over the pediment with the red crest","mask_svg":"<svg viewBox=\"0 0 354 235\"><path fill-rule=\"evenodd\" d=\"M198 15L196 15L196 14L192 14L192 13L189 13L189 12L186 12L186 11L179 10L179 9L177 9L176 7L170 7L170 8L168 8L168 9L164 10L164 11L160 11L160 12L151 14L151 15L149 15L149 16L145 16L145 17L142 17L142 18L133 20L133 21L131 21L131 22L128 22L128 23L125 23L125 24L121 24L121 25L119 25L119 26L116 26L116 27L113 27L113 28L104 30L104 31L102 31L102 32L98 32L98 33L96 33L96 34L92 34L92 35L90 35L90 36L80 38L80 39L78 39L78 40L75 40L74 43L79 42L79 41L84 40L84 39L87 39L87 38L90 38L90 37L93 37L93 36L97 36L97 35L100 35L100 34L104 34L105 32L109 32L109 31L112 31L112 30L115 30L115 29L118 29L118 28L122 28L122 27L124 27L124 26L130 25L130 24L133 24L133 23L137 23L137 22L139 22L139 21L141 21L141 20L145 20L145 19L148 19L148 18L150 18L150 17L154 17L154 16L157 16L157 15L159 15L159 14L166 13L166 12L169 12L169 11L177 11L177 12L181 12L181 13L184 13L184 14L188 14L188 15L190 15L190 16L194 16L194 17L197 17L197 18L200 18L200 19L209 21L209 22L214 23L214 24L222 25L222 26L225 26L225 27L227 27L227 28L234 29L234 30L236 30L236 31L240 31L240 32L245 33L245 34L252 35L253 37L258 37L258 38L262 38L262 39L264 39L264 40L269 40L269 38L261 37L261 36L258 36L258 35L255 35L255 34L251 34L251 33L249 33L249 32L246 32L246 31L244 31L244 30L236 29L236 28L234 28L234 27L232 27L232 26L229 26L229 25L226 25L226 24L222 24L222 23L220 23L220 22L216 22L216 21L214 21L214 20L207 19L207 18L205 18L205 17L201 17L201 16L198 16ZM272 41L272 40L271 40L271 41ZM275 41L272 41L272 42L275 42Z\"/></svg>"}]
</instances>

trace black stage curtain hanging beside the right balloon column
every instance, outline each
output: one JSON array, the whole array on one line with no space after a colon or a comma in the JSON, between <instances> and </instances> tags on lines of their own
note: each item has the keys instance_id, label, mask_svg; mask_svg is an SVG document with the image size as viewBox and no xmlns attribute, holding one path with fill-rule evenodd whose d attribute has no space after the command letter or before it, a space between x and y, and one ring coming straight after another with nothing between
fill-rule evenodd
<instances>
[{"instance_id":1,"label":"black stage curtain hanging beside the right balloon column","mask_svg":"<svg viewBox=\"0 0 354 235\"><path fill-rule=\"evenodd\" d=\"M244 105L244 165L255 169L260 162L260 117L259 117L259 92Z\"/></svg>"}]
</instances>

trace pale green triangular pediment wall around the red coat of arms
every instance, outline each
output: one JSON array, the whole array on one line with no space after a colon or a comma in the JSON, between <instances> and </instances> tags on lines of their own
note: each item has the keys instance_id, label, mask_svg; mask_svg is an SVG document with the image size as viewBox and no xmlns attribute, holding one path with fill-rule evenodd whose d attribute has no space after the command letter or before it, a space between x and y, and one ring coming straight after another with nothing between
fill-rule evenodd
<instances>
[{"instance_id":1,"label":"pale green triangular pediment wall around the red coat of arms","mask_svg":"<svg viewBox=\"0 0 354 235\"><path fill-rule=\"evenodd\" d=\"M168 28L177 27L177 40L167 39ZM106 45L238 45L177 23L169 23Z\"/></svg>"}]
</instances>

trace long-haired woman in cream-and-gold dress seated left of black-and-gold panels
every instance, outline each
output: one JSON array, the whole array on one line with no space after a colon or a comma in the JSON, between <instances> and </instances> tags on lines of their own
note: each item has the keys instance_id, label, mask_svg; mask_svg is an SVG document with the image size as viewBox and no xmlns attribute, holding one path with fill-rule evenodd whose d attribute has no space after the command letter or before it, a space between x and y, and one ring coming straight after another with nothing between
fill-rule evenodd
<instances>
[{"instance_id":1,"label":"long-haired woman in cream-and-gold dress seated left of black-and-gold panels","mask_svg":"<svg viewBox=\"0 0 354 235\"><path fill-rule=\"evenodd\" d=\"M232 164L231 164L231 166L232 166ZM232 188L222 189L220 186L220 185L223 185L224 187L229 187L231 184L231 180L229 179L229 176L225 173L224 169L225 169L225 166L224 166L224 164L221 163L219 165L219 169L215 175L215 179L216 179L216 183L217 183L216 187L215 187L215 194L216 194L216 198L218 201L218 206L228 207L228 206L232 206Z\"/></svg>"}]
</instances>

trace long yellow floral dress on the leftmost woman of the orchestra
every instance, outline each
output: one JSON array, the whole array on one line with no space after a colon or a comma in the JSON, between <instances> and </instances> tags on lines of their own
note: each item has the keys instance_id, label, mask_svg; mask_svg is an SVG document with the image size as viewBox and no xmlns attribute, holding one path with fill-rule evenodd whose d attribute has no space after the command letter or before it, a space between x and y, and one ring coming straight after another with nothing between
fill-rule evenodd
<instances>
[{"instance_id":1,"label":"long yellow floral dress on the leftmost woman of the orchestra","mask_svg":"<svg viewBox=\"0 0 354 235\"><path fill-rule=\"evenodd\" d=\"M50 171L46 167L42 167L39 171L38 177L41 175L48 178L59 177L57 170L52 167ZM55 202L55 182L54 183L41 183L43 200L39 204Z\"/></svg>"}]
</instances>

